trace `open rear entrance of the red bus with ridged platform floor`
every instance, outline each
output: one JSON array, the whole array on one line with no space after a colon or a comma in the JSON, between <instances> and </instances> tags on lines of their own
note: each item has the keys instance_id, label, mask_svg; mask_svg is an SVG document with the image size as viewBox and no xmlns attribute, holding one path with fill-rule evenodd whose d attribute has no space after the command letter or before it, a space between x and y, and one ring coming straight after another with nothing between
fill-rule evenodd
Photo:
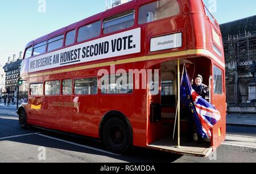
<instances>
[{"instance_id":1,"label":"open rear entrance of the red bus with ridged platform floor","mask_svg":"<svg viewBox=\"0 0 256 174\"><path fill-rule=\"evenodd\" d=\"M189 77L195 80L197 74L204 77L203 83L209 86L211 63L208 58L189 58L180 60L180 78L183 65L186 65ZM174 152L176 154L207 157L213 151L210 139L198 141L193 116L183 104L180 105L180 146L177 147L177 60L171 60L154 65L159 68L158 95L149 96L150 123L148 148ZM206 99L209 100L208 96ZM174 135L174 138L173 138Z\"/></svg>"}]
</instances>

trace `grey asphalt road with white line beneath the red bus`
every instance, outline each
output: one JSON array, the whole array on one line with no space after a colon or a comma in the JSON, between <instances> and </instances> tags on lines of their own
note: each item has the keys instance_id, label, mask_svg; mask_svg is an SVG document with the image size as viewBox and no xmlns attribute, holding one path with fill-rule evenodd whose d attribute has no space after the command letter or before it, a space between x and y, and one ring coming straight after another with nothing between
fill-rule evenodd
<instances>
[{"instance_id":1,"label":"grey asphalt road with white line beneath the red bus","mask_svg":"<svg viewBox=\"0 0 256 174\"><path fill-rule=\"evenodd\" d=\"M228 126L228 134L235 138L256 139L256 128ZM236 135L238 137L236 137ZM228 142L230 143L230 142ZM0 162L69 162L69 163L187 163L187 162L256 162L256 140L236 145L222 145L209 158L181 156L167 152L135 147L126 155L115 155L101 143L91 139L70 137L45 130L19 128L15 108L0 107ZM245 146L243 146L245 145ZM45 153L44 153L45 152Z\"/></svg>"}]
</instances>

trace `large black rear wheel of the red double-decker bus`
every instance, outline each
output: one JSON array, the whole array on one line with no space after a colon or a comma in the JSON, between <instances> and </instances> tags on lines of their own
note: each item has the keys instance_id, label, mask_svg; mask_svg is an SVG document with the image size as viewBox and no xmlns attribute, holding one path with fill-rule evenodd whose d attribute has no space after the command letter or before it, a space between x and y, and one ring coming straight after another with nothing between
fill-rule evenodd
<instances>
[{"instance_id":1,"label":"large black rear wheel of the red double-decker bus","mask_svg":"<svg viewBox=\"0 0 256 174\"><path fill-rule=\"evenodd\" d=\"M102 141L115 154L124 154L130 146L130 132L119 118L110 118L102 129Z\"/></svg>"}]
</instances>

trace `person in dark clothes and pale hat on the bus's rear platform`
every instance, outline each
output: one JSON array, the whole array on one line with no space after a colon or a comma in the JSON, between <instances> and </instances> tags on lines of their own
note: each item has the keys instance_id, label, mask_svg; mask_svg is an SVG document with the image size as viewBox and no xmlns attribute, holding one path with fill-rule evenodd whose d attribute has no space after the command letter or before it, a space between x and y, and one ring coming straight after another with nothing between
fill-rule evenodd
<instances>
[{"instance_id":1,"label":"person in dark clothes and pale hat on the bus's rear platform","mask_svg":"<svg viewBox=\"0 0 256 174\"><path fill-rule=\"evenodd\" d=\"M197 75L195 79L195 84L192 85L193 90L197 92L204 99L209 96L209 88L205 84L203 84L203 77L201 75ZM194 132L194 120L192 116L188 116L188 137L187 141L193 141L193 132ZM201 135L197 134L197 141L199 143L203 142L203 138Z\"/></svg>"}]
</instances>

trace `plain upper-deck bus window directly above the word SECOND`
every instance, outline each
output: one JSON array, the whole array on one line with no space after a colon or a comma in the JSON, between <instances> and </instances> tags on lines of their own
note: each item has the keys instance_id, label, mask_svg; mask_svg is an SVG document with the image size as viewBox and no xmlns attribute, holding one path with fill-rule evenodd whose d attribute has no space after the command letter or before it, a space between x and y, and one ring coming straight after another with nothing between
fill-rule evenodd
<instances>
[{"instance_id":1,"label":"plain upper-deck bus window directly above the word SECOND","mask_svg":"<svg viewBox=\"0 0 256 174\"><path fill-rule=\"evenodd\" d=\"M80 41L92 39L94 37L99 36L100 32L101 32L101 20L79 28L77 41L80 42Z\"/></svg>"}]
</instances>

